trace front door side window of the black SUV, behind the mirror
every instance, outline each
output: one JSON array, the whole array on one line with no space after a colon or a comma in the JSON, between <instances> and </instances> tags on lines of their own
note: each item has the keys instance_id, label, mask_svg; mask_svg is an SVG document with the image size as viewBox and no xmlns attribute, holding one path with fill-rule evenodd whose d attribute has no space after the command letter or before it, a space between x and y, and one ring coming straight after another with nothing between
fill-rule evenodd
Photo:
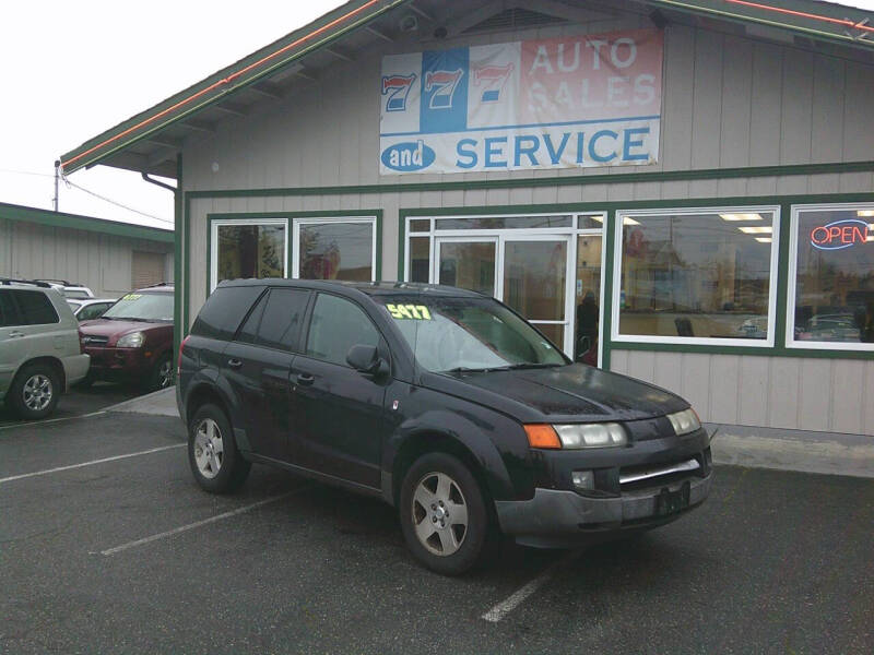
<instances>
[{"instance_id":1,"label":"front door side window of the black SUV, behind the mirror","mask_svg":"<svg viewBox=\"0 0 874 655\"><path fill-rule=\"evenodd\" d=\"M379 345L379 332L364 310L351 300L319 294L309 323L306 354L349 366L346 355L352 346L358 344Z\"/></svg>"}]
</instances>

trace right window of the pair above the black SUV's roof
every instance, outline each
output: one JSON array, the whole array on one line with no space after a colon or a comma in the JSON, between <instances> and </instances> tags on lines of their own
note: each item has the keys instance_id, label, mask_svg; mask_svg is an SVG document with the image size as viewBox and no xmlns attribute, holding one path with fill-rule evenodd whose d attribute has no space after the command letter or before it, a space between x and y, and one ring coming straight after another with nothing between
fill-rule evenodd
<instances>
[{"instance_id":1,"label":"right window of the pair above the black SUV's roof","mask_svg":"<svg viewBox=\"0 0 874 655\"><path fill-rule=\"evenodd\" d=\"M374 279L373 221L302 224L298 233L303 279Z\"/></svg>"}]
</instances>

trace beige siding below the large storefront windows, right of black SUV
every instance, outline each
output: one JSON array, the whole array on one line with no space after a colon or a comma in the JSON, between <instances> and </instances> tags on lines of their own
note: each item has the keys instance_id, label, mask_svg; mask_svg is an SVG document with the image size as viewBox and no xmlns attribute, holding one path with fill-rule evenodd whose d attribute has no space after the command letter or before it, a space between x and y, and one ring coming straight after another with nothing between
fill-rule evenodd
<instances>
[{"instance_id":1,"label":"beige siding below the large storefront windows, right of black SUV","mask_svg":"<svg viewBox=\"0 0 874 655\"><path fill-rule=\"evenodd\" d=\"M611 369L678 393L709 422L874 436L874 359L614 350Z\"/></svg>"}]
</instances>

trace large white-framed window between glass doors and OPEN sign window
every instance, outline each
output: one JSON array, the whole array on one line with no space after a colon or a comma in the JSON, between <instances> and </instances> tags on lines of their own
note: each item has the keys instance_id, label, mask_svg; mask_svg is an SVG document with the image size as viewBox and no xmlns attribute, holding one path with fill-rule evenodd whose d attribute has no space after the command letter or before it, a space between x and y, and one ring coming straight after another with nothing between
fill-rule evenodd
<instances>
[{"instance_id":1,"label":"large white-framed window between glass doors and OPEN sign window","mask_svg":"<svg viewBox=\"0 0 874 655\"><path fill-rule=\"evenodd\" d=\"M776 215L775 209L621 214L617 338L770 345Z\"/></svg>"}]
</instances>

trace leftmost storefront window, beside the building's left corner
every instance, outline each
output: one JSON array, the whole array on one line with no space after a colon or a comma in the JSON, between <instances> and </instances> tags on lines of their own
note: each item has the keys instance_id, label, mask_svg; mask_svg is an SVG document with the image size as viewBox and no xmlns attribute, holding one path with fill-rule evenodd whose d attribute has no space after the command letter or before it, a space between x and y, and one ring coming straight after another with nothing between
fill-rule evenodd
<instances>
[{"instance_id":1,"label":"leftmost storefront window, beside the building's left corner","mask_svg":"<svg viewBox=\"0 0 874 655\"><path fill-rule=\"evenodd\" d=\"M285 274L285 224L217 225L217 278L283 277Z\"/></svg>"}]
</instances>

